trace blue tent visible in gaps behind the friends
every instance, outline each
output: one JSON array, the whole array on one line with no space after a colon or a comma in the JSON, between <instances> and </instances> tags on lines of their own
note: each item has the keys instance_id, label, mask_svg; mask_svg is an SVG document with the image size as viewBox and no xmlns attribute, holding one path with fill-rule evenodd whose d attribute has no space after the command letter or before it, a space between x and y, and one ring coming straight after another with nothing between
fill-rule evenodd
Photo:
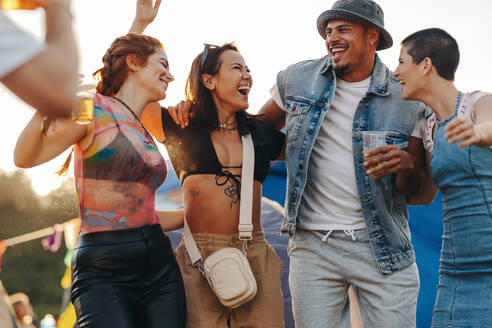
<instances>
[{"instance_id":1,"label":"blue tent visible in gaps behind the friends","mask_svg":"<svg viewBox=\"0 0 492 328\"><path fill-rule=\"evenodd\" d=\"M172 201L171 195L180 188L178 178L171 165L164 184L158 189L156 207L159 209L175 209L182 207ZM282 292L285 304L285 326L294 327L290 291L288 286L289 258L287 256L287 238L280 236L282 208L285 200L286 168L285 162L272 162L270 173L263 183L262 224L267 241L284 263L282 273ZM410 229L412 243L417 254L417 265L420 274L420 293L417 304L417 327L430 327L432 309L436 297L438 283L439 255L442 235L442 209L440 194L430 206L410 206ZM173 246L181 240L181 232L169 233Z\"/></svg>"}]
</instances>

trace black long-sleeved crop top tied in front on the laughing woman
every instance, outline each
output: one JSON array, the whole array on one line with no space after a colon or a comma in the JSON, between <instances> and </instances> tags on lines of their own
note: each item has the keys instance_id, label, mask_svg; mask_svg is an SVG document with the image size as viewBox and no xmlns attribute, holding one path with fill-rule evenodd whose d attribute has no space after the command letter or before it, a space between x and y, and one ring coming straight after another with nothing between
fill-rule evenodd
<instances>
[{"instance_id":1,"label":"black long-sleeved crop top tied in front on the laughing woman","mask_svg":"<svg viewBox=\"0 0 492 328\"><path fill-rule=\"evenodd\" d=\"M169 116L166 108L162 108L161 117L166 137L164 145L181 184L193 174L230 175L220 164L208 131L193 124L182 129ZM285 135L270 124L245 115L238 115L238 129L241 135L247 134L248 130L251 133L255 149L254 179L263 183L270 169L270 161L277 159L282 151Z\"/></svg>"}]
</instances>

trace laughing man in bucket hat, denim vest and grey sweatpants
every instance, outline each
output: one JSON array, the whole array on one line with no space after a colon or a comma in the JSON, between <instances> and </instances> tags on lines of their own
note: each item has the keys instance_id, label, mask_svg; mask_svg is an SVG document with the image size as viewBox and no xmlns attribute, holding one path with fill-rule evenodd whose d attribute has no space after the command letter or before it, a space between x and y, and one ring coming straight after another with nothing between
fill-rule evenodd
<instances>
[{"instance_id":1,"label":"laughing man in bucket hat, denim vest and grey sweatpants","mask_svg":"<svg viewBox=\"0 0 492 328\"><path fill-rule=\"evenodd\" d=\"M364 327L415 327L419 278L406 205L416 200L408 182L428 181L415 129L421 107L401 100L376 54L393 44L378 4L339 0L317 27L328 55L281 71L260 110L286 125L282 232L294 319L303 328L349 327L353 285ZM384 160L377 168L365 169L363 131L391 144L370 153Z\"/></svg>"}]
</instances>

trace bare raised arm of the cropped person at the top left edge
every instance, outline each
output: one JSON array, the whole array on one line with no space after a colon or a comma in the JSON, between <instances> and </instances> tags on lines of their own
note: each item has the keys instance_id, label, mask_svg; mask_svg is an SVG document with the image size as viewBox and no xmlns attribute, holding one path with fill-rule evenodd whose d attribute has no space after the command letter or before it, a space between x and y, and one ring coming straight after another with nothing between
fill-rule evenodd
<instances>
[{"instance_id":1,"label":"bare raised arm of the cropped person at the top left edge","mask_svg":"<svg viewBox=\"0 0 492 328\"><path fill-rule=\"evenodd\" d=\"M43 115L71 115L79 60L70 2L46 2L46 48L1 79L8 89Z\"/></svg>"}]
</instances>

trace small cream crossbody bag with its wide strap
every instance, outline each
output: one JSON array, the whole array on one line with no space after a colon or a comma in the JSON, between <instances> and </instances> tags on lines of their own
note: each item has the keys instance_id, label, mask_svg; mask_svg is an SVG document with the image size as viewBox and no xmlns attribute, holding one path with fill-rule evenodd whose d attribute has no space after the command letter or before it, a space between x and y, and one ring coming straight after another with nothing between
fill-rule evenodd
<instances>
[{"instance_id":1,"label":"small cream crossbody bag with its wide strap","mask_svg":"<svg viewBox=\"0 0 492 328\"><path fill-rule=\"evenodd\" d=\"M253 170L255 151L251 135L241 137L243 141L243 165L241 173L241 202L239 204L239 239L243 240L243 251L226 247L210 254L205 261L196 246L190 228L184 222L183 240L193 266L196 266L212 288L222 305L237 308L256 295L256 280L251 271L246 250L253 238Z\"/></svg>"}]
</instances>

